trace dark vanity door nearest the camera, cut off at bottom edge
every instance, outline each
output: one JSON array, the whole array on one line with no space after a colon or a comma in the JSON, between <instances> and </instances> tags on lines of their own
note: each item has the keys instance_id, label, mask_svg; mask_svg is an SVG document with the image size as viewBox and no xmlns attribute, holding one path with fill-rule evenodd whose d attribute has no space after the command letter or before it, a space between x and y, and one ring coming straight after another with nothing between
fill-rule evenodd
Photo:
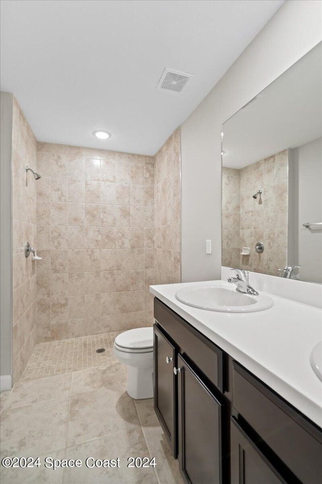
<instances>
[{"instance_id":1,"label":"dark vanity door nearest the camera, cut off at bottom edge","mask_svg":"<svg viewBox=\"0 0 322 484\"><path fill-rule=\"evenodd\" d=\"M231 484L286 484L256 444L230 418Z\"/></svg>"}]
</instances>

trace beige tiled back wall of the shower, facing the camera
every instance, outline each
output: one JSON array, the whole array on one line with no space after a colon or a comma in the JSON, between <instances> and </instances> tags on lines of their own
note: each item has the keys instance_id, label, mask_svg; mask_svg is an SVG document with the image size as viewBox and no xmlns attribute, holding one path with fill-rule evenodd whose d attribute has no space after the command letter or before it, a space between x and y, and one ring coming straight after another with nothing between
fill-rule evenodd
<instances>
[{"instance_id":1,"label":"beige tiled back wall of the shower, facing the camera","mask_svg":"<svg viewBox=\"0 0 322 484\"><path fill-rule=\"evenodd\" d=\"M38 143L38 341L153 323L154 160Z\"/></svg>"}]
</instances>

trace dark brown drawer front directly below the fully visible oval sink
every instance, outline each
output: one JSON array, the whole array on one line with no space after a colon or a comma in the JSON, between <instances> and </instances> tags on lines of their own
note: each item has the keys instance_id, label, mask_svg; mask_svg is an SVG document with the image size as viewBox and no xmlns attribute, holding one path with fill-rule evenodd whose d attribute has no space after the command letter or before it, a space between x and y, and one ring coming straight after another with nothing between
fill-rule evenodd
<instances>
[{"instance_id":1,"label":"dark brown drawer front directly below the fully visible oval sink","mask_svg":"<svg viewBox=\"0 0 322 484\"><path fill-rule=\"evenodd\" d=\"M156 298L154 298L154 318L222 392L223 351Z\"/></svg>"}]
</instances>

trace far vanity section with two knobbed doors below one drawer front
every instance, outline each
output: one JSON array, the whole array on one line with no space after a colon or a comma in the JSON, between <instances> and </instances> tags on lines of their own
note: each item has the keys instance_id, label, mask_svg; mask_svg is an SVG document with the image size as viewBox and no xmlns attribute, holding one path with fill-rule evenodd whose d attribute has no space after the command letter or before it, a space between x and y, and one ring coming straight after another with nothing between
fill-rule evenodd
<instances>
[{"instance_id":1,"label":"far vanity section with two knobbed doors below one drawer front","mask_svg":"<svg viewBox=\"0 0 322 484\"><path fill-rule=\"evenodd\" d=\"M187 484L226 484L222 351L154 301L154 408Z\"/></svg>"}]
</instances>

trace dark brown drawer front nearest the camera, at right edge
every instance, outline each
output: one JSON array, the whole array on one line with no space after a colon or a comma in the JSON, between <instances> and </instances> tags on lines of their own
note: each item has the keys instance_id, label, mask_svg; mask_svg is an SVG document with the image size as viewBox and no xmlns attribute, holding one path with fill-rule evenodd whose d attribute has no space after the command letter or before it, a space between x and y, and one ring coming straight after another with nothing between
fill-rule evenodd
<instances>
[{"instance_id":1,"label":"dark brown drawer front nearest the camera, at right edge","mask_svg":"<svg viewBox=\"0 0 322 484\"><path fill-rule=\"evenodd\" d=\"M232 404L301 482L322 482L322 432L235 361Z\"/></svg>"}]
</instances>

